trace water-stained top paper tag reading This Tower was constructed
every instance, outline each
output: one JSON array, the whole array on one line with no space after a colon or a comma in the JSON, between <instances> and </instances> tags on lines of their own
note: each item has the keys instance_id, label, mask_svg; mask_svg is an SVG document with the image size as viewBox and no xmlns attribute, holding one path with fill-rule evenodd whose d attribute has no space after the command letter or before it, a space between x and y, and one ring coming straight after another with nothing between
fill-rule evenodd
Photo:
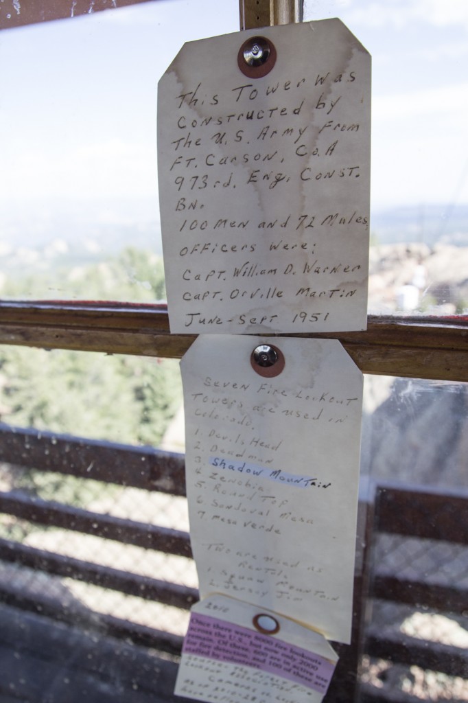
<instances>
[{"instance_id":1,"label":"water-stained top paper tag reading This Tower was constructed","mask_svg":"<svg viewBox=\"0 0 468 703\"><path fill-rule=\"evenodd\" d=\"M337 19L258 32L189 42L160 80L171 331L365 329L370 56Z\"/></svg>"}]
</instances>

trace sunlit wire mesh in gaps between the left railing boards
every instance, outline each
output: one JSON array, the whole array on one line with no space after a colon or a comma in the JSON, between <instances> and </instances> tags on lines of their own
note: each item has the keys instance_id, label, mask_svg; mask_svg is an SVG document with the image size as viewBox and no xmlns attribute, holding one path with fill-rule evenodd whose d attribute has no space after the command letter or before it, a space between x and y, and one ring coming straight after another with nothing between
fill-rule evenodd
<instances>
[{"instance_id":1,"label":"sunlit wire mesh in gaps between the left railing boards","mask_svg":"<svg viewBox=\"0 0 468 703\"><path fill-rule=\"evenodd\" d=\"M63 505L86 508L96 516L112 515L139 524L188 531L186 498L155 491L103 485L89 479L31 471L6 464L0 465L0 489L14 491L17 496L34 494L45 500L60 501ZM12 515L0 515L0 537L126 574L197 588L195 563L187 557L93 534L38 525ZM178 635L185 633L188 623L188 611L178 607L24 566L3 565L0 571L1 586L14 586L30 598L45 594L64 610L74 609L77 614L87 609L96 615L107 614Z\"/></svg>"}]
</instances>

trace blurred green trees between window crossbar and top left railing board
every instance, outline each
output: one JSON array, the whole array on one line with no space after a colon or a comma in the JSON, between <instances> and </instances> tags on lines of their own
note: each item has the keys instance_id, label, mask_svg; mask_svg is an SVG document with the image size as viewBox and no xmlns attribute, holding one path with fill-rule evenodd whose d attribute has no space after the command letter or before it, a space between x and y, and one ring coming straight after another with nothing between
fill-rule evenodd
<instances>
[{"instance_id":1,"label":"blurred green trees between window crossbar and top left railing board","mask_svg":"<svg viewBox=\"0 0 468 703\"><path fill-rule=\"evenodd\" d=\"M1 349L0 419L8 425L159 446L180 406L174 359Z\"/></svg>"}]
</instances>

